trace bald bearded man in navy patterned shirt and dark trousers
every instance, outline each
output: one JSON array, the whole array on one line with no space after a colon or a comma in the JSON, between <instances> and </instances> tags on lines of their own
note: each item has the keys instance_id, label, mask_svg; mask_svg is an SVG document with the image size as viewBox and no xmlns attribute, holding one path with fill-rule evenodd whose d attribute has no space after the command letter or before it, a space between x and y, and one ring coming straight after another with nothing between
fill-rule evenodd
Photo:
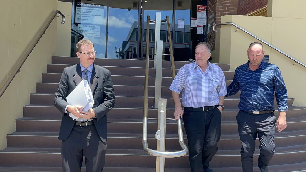
<instances>
[{"instance_id":1,"label":"bald bearded man in navy patterned shirt and dark trousers","mask_svg":"<svg viewBox=\"0 0 306 172\"><path fill-rule=\"evenodd\" d=\"M268 164L275 152L274 92L280 112L276 127L286 128L287 89L281 71L276 65L262 61L265 51L261 43L251 43L249 61L236 68L233 82L227 87L227 96L241 90L237 114L238 132L242 143L241 163L243 172L253 172L253 153L258 134L260 155L258 167L268 172Z\"/></svg>"}]
</instances>

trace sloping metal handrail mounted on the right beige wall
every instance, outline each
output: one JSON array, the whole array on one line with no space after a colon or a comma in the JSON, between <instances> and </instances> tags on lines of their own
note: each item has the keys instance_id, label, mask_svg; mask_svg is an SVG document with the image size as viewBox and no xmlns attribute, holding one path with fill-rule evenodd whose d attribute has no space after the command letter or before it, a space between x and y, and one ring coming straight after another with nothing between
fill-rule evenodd
<instances>
[{"instance_id":1,"label":"sloping metal handrail mounted on the right beige wall","mask_svg":"<svg viewBox=\"0 0 306 172\"><path fill-rule=\"evenodd\" d=\"M240 26L238 26L238 25L237 25L237 24L235 24L235 23L232 23L232 22L226 22L226 23L218 23L218 24L214 24L214 26L212 27L212 30L213 30L214 32L217 32L217 30L215 29L215 27L216 27L216 26L221 26L221 25L226 25L226 24L231 24L231 25L233 25L233 26L237 27L237 30L238 30L238 29L241 29L243 32L245 32L245 33L247 33L247 34L249 34L249 35L253 36L254 38L258 39L259 41L261 41L261 42L265 43L267 46L269 46L269 47L273 48L274 50L277 50L277 51L278 51L278 52L280 52L281 54L283 54L283 55L287 56L287 57L288 57L288 58L290 58L291 60L295 61L295 63L294 63L293 65L295 65L296 63L299 63L300 65L302 65L302 66L306 67L306 65L304 65L302 62L300 62L300 61L298 61L297 59L295 59L295 58L293 58L293 57L289 56L288 54L284 53L283 51L279 50L278 48L274 47L273 45L271 45L271 44L267 43L266 41L264 41L264 40L260 39L259 37L257 37L257 36L255 36L255 35L253 35L252 33L248 32L248 31L247 31L247 30L245 30L244 28L241 28ZM237 31L236 31L236 32L237 32Z\"/></svg>"}]
</instances>

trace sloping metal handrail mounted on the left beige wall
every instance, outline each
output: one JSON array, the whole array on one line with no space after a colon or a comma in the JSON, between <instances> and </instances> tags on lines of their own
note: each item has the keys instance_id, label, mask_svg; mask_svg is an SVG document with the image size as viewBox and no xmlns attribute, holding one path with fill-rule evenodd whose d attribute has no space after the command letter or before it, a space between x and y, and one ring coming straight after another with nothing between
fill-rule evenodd
<instances>
[{"instance_id":1,"label":"sloping metal handrail mounted on the left beige wall","mask_svg":"<svg viewBox=\"0 0 306 172\"><path fill-rule=\"evenodd\" d=\"M3 84L2 88L0 89L0 98L5 92L5 90L8 88L9 84L12 82L18 71L20 70L21 66L24 64L24 62L27 60L28 56L40 40L40 38L43 36L43 34L46 32L47 28L53 21L54 17L59 17L57 14L61 15L63 17L62 24L65 23L65 15L61 13L60 11L56 10L45 22L46 24L43 26L43 28L40 29L40 32L37 34L37 37L32 41L32 44L29 46L28 50L22 55L22 58L19 60L19 63L16 65L15 69L11 72L10 76L7 78L6 82Z\"/></svg>"}]
</instances>

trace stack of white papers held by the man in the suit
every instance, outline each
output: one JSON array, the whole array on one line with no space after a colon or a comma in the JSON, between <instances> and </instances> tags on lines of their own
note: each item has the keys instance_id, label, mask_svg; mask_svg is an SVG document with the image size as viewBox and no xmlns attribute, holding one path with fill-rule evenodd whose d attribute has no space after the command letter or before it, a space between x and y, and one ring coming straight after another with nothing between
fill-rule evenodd
<instances>
[{"instance_id":1,"label":"stack of white papers held by the man in the suit","mask_svg":"<svg viewBox=\"0 0 306 172\"><path fill-rule=\"evenodd\" d=\"M72 106L81 106L83 111L87 111L94 106L94 99L91 93L91 89L87 80L82 80L80 84L73 89L73 91L67 96L67 102ZM72 119L78 119L72 113L69 113Z\"/></svg>"}]
</instances>

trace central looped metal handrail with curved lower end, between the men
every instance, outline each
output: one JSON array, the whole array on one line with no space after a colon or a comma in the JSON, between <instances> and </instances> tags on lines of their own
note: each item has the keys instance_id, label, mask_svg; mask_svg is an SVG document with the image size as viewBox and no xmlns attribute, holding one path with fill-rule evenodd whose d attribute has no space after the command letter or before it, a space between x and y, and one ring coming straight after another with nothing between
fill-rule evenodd
<instances>
[{"instance_id":1,"label":"central looped metal handrail with curved lower end, between the men","mask_svg":"<svg viewBox=\"0 0 306 172\"><path fill-rule=\"evenodd\" d=\"M169 46L170 46L170 54L171 54L171 68L174 69L174 59L173 59L173 52L172 52L172 40L170 36L170 20L169 16L165 19L167 21L168 25L168 37L169 37ZM162 20L162 21L165 21ZM150 20L150 16L147 16L147 21ZM152 21L153 22L153 21ZM154 21L155 22L155 21ZM142 135L142 145L145 152L147 152L150 155L164 157L164 158L176 158L184 156L188 153L188 148L186 144L184 143L183 138L183 131L182 131L182 123L181 118L177 119L177 129L178 129L178 140L179 144L181 145L181 148L183 150L181 151L175 151L175 152L169 152L169 151L156 151L153 149L148 148L148 141L147 141L147 111L148 111L148 81L149 81L149 22L147 22L147 41L146 41L146 68L145 68L145 79L144 79L144 121L143 121L143 135ZM172 76L175 77L175 69L174 74Z\"/></svg>"}]
</instances>

